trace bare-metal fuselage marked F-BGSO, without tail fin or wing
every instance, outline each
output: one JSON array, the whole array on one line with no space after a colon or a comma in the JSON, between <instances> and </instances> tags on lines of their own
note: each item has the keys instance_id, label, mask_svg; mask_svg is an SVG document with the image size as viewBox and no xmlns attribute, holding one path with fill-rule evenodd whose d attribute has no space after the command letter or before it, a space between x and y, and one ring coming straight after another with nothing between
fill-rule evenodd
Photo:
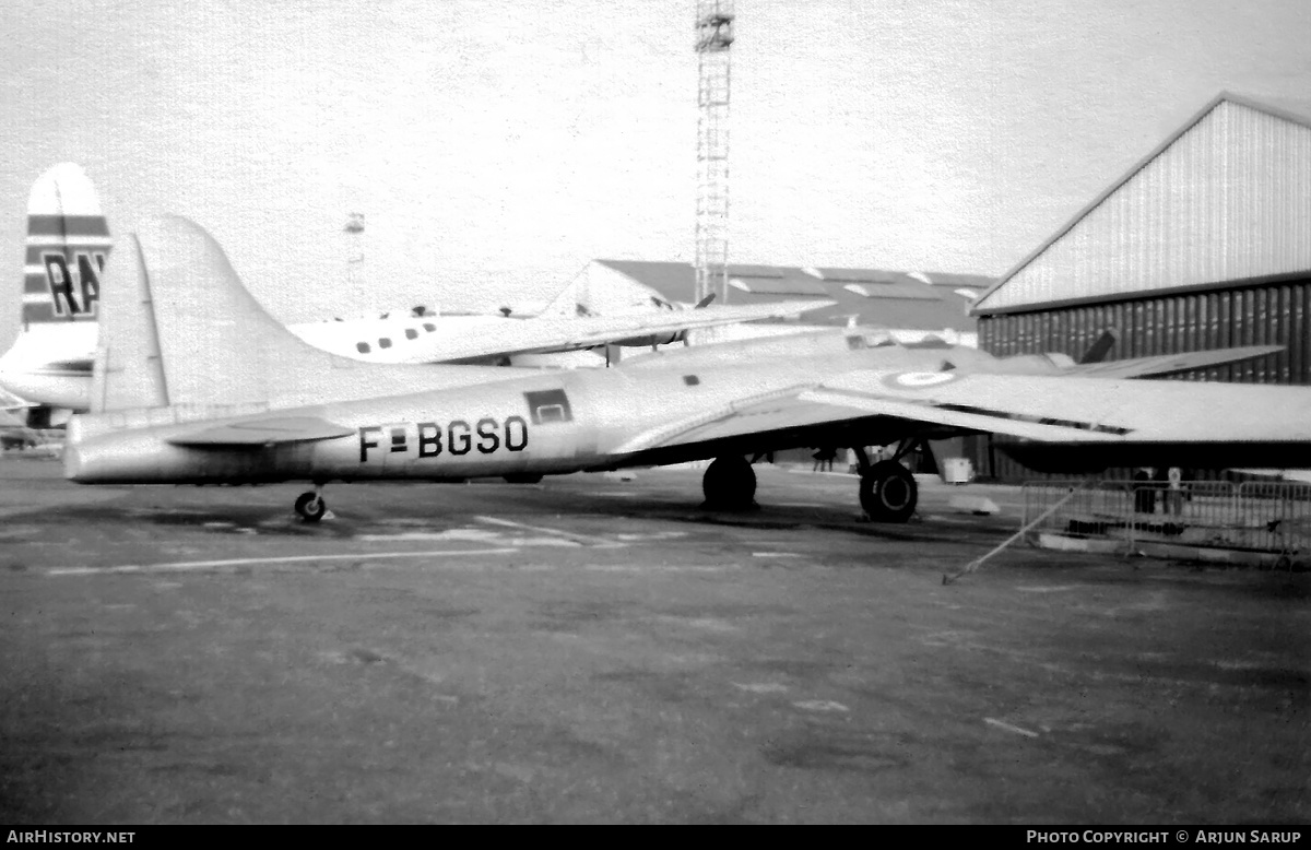
<instances>
[{"instance_id":1,"label":"bare-metal fuselage marked F-BGSO, without tail fin or wing","mask_svg":"<svg viewBox=\"0 0 1311 850\"><path fill-rule=\"evenodd\" d=\"M853 352L847 358L851 369L897 367L886 362L884 352ZM476 387L277 411L266 416L317 417L353 433L267 446L195 447L169 442L249 416L177 424L157 422L165 408L77 416L69 425L64 468L75 481L143 484L458 480L663 463L670 462L669 455L625 451L623 446L653 430L653 422L713 417L732 403L813 383L826 366L831 367L831 358L775 363L768 370L749 363L687 371L552 373ZM151 424L152 417L156 424ZM713 446L684 447L676 459L716 454Z\"/></svg>"}]
</instances>

